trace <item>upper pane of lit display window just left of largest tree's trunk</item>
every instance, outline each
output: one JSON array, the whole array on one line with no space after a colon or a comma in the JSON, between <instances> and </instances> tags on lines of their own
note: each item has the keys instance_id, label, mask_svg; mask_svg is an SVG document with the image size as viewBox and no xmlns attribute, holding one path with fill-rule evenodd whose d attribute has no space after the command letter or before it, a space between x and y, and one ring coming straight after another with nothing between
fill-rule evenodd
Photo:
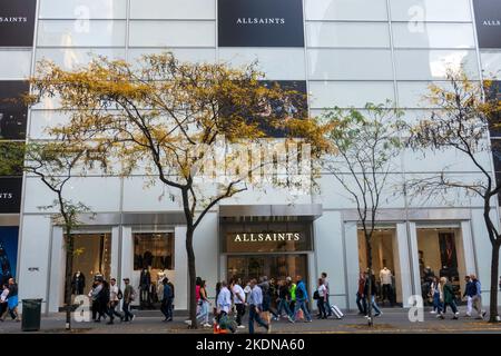
<instances>
[{"instance_id":1,"label":"upper pane of lit display window just left of largest tree's trunk","mask_svg":"<svg viewBox=\"0 0 501 356\"><path fill-rule=\"evenodd\" d=\"M134 269L174 269L173 233L134 234Z\"/></svg>"}]
</instances>

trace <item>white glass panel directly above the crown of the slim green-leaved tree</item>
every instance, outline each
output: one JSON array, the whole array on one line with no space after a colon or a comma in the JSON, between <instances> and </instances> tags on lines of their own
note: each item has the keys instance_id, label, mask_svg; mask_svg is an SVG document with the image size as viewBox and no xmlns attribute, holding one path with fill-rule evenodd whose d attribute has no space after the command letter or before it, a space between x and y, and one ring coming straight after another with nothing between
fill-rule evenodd
<instances>
[{"instance_id":1,"label":"white glass panel directly above the crown of the slim green-leaved tree","mask_svg":"<svg viewBox=\"0 0 501 356\"><path fill-rule=\"evenodd\" d=\"M381 103L394 100L393 82L386 81L312 81L310 82L312 108L363 108L366 102Z\"/></svg>"}]
</instances>

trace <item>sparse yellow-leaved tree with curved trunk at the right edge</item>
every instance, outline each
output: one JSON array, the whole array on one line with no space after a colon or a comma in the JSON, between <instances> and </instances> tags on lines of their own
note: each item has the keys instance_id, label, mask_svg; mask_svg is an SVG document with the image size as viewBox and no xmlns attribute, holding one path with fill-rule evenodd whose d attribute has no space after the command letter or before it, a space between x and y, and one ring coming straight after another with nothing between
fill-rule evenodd
<instances>
[{"instance_id":1,"label":"sparse yellow-leaved tree with curved trunk at the right edge","mask_svg":"<svg viewBox=\"0 0 501 356\"><path fill-rule=\"evenodd\" d=\"M499 127L501 102L490 96L491 81L481 83L470 80L462 69L449 69L446 78L446 86L430 86L425 99L436 109L430 118L411 128L410 146L435 151L454 149L477 167L481 178L452 177L442 172L436 177L412 181L410 190L444 197L449 191L460 189L483 200L483 219L492 245L489 320L497 323L501 231L499 224L493 220L492 210L501 192L501 181L481 157L492 152L489 129Z\"/></svg>"}]
</instances>

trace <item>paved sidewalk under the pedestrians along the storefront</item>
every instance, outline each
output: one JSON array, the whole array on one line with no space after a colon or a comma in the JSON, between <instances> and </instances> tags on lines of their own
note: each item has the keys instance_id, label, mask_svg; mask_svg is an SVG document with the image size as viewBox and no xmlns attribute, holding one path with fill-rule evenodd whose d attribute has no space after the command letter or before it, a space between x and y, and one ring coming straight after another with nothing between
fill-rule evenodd
<instances>
[{"instance_id":1,"label":"paved sidewalk under the pedestrians along the storefront","mask_svg":"<svg viewBox=\"0 0 501 356\"><path fill-rule=\"evenodd\" d=\"M185 317L175 317L171 323L163 323L160 312L136 312L138 316L132 323L117 322L115 325L101 323L72 323L76 334L212 334L210 328L190 330L184 323ZM295 323L287 320L272 323L272 334L298 333L298 334L351 334L351 333L499 333L501 324L491 325L483 320L463 317L461 313L459 320L452 320L452 315L446 315L444 320L439 320L429 310L424 312L424 323L411 323L407 318L407 309L383 309L383 315L375 318L373 328L366 326L366 319L354 313L347 314L344 319L314 319L313 323ZM245 323L247 325L247 323ZM41 330L38 333L67 333L65 329L65 315L55 314L43 317ZM263 328L256 327L257 333L264 333ZM0 323L0 334L22 333L21 323L6 320ZM238 333L247 333L247 328Z\"/></svg>"}]
</instances>

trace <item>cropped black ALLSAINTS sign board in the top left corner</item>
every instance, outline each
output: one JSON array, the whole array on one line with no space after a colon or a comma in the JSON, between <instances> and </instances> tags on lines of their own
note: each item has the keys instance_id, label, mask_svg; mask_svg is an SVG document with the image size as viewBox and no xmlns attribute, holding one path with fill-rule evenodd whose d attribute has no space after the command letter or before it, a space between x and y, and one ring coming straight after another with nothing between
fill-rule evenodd
<instances>
[{"instance_id":1,"label":"cropped black ALLSAINTS sign board in the top left corner","mask_svg":"<svg viewBox=\"0 0 501 356\"><path fill-rule=\"evenodd\" d=\"M0 0L0 47L32 47L37 0Z\"/></svg>"}]
</instances>

